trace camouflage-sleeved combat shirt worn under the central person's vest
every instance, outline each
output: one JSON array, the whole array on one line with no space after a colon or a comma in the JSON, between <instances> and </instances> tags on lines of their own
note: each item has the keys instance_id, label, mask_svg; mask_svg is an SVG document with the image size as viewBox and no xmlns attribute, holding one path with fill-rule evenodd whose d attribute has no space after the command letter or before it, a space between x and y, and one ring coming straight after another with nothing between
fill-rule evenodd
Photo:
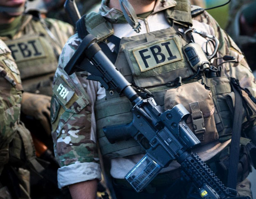
<instances>
[{"instance_id":1,"label":"camouflage-sleeved combat shirt worn under the central person's vest","mask_svg":"<svg viewBox=\"0 0 256 199\"><path fill-rule=\"evenodd\" d=\"M113 24L114 31L118 29L118 31L114 32L115 35L119 38L138 35L127 23L125 23L126 20L122 13L116 9L109 9L106 2L106 0L103 0L100 14ZM184 2L184 4L186 3L187 2ZM150 16L152 16L152 18L158 15L163 16L163 12L161 11L174 7L175 5L176 2L172 0L165 1L164 4L163 1L160 2L159 0L155 7L156 14ZM175 17L175 15L173 16ZM170 27L170 24L163 19L164 18L161 18L161 23L158 24L161 29ZM89 22L90 20L88 20L88 23ZM143 24L143 20L140 22ZM151 24L149 20L147 20L147 24ZM98 33L100 34L101 32L94 31L93 28L91 29L91 27L95 27L94 25L95 24L93 23L89 24L87 30L95 36L98 36ZM98 24L98 26L100 25ZM232 55L239 60L239 64L224 64L224 74L228 77L238 78L241 85L243 87L249 87L249 89L251 88L251 91L255 96L256 84L254 76L251 74L244 56L231 38L220 29L215 20L205 12L196 18L193 18L193 27L206 31L218 38L220 41L220 49L217 53L217 57ZM112 31L111 28L109 28L109 30L110 32ZM146 27L142 25L142 34L147 30ZM158 30L156 22L152 22L152 25L150 25L150 31L152 30ZM194 37L196 42L204 46L205 40L202 40L198 35L194 35ZM59 187L64 187L81 181L100 179L99 156L96 143L101 138L97 138L96 135L97 126L95 120L98 118L95 118L95 106L99 104L97 104L97 101L100 101L101 99L102 102L104 102L107 92L105 93L104 88L101 88L100 83L86 80L88 73L76 72L68 76L63 70L70 60L70 57L77 50L80 42L81 40L78 38L77 34L73 35L68 40L63 48L59 66L54 77L51 121L55 156L61 165L61 168L58 170ZM109 48L113 50L113 45L109 44ZM122 65L122 62L119 64ZM68 93L68 95L65 95L65 93ZM121 105L119 106L119 104L116 103L116 111L121 109ZM103 107L103 115L107 114L104 113L104 110L106 109ZM109 121L110 125L112 125L111 122L113 121ZM209 161L209 159L220 155L220 152L229 144L230 134L225 135L224 132L222 133L223 134L219 135L222 142L211 148L212 150L207 150L207 152L204 153L206 149L203 146L198 148L197 152L204 161ZM110 170L112 177L115 179L124 178L127 172L133 168L135 163L138 162L141 157L141 155L130 155L126 158L112 158ZM133 164L130 164L131 162L133 162ZM172 172L177 168L179 168L179 166L175 162L172 162L165 171ZM175 174L173 174L172 177L175 178ZM127 196L131 197L128 193ZM182 197L180 196L180 198Z\"/></svg>"}]
</instances>

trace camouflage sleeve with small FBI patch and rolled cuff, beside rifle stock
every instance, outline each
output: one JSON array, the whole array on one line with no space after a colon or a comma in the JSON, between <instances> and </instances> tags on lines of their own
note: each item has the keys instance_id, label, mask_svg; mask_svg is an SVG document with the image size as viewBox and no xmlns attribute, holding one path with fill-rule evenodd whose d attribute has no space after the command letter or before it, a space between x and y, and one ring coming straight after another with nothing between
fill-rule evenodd
<instances>
[{"instance_id":1,"label":"camouflage sleeve with small FBI patch and rolled cuff, beside rifle stock","mask_svg":"<svg viewBox=\"0 0 256 199\"><path fill-rule=\"evenodd\" d=\"M80 41L76 34L64 46L53 82L51 122L54 152L61 166L59 187L101 178L93 112L97 82L86 80L86 72L68 76L63 70Z\"/></svg>"}]
</instances>

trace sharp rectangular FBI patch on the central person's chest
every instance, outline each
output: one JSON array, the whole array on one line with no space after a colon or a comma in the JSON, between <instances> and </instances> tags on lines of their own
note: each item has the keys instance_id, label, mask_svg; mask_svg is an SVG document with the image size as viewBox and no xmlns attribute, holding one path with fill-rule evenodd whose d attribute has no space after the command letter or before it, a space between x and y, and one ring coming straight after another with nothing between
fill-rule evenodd
<instances>
[{"instance_id":1,"label":"sharp rectangular FBI patch on the central person's chest","mask_svg":"<svg viewBox=\"0 0 256 199\"><path fill-rule=\"evenodd\" d=\"M141 72L182 60L181 51L174 38L139 46L132 49L132 53Z\"/></svg>"}]
</instances>

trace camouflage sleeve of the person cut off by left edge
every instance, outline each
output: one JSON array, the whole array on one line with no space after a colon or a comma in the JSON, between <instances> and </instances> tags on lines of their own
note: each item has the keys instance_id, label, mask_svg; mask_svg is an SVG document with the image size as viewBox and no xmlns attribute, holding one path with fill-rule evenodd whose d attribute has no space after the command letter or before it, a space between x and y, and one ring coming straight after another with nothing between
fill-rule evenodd
<instances>
[{"instance_id":1,"label":"camouflage sleeve of the person cut off by left edge","mask_svg":"<svg viewBox=\"0 0 256 199\"><path fill-rule=\"evenodd\" d=\"M20 119L22 86L11 51L0 40L0 172L8 161L8 146Z\"/></svg>"}]
</instances>

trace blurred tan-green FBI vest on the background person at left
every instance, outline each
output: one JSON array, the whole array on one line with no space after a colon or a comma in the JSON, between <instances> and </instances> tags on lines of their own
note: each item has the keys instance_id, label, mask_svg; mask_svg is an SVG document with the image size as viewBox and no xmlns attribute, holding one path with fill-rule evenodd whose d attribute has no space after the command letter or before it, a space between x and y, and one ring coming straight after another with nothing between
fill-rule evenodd
<instances>
[{"instance_id":1,"label":"blurred tan-green FBI vest on the background person at left","mask_svg":"<svg viewBox=\"0 0 256 199\"><path fill-rule=\"evenodd\" d=\"M24 15L21 24L23 32L5 42L18 65L23 88L27 92L51 95L59 49L39 20Z\"/></svg>"}]
</instances>

